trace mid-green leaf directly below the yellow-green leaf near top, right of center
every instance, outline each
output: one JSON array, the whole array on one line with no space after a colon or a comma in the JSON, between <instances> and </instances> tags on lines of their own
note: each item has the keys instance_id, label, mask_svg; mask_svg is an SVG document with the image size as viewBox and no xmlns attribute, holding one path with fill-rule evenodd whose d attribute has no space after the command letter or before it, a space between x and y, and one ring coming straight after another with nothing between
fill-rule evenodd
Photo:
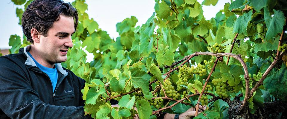
<instances>
[{"instance_id":1,"label":"mid-green leaf directly below the yellow-green leaf near top, right of center","mask_svg":"<svg viewBox=\"0 0 287 119\"><path fill-rule=\"evenodd\" d=\"M196 35L205 35L208 32L208 29L212 29L212 24L206 21L204 18L198 22L199 24L195 26L192 30L194 36Z\"/></svg>"}]
</instances>

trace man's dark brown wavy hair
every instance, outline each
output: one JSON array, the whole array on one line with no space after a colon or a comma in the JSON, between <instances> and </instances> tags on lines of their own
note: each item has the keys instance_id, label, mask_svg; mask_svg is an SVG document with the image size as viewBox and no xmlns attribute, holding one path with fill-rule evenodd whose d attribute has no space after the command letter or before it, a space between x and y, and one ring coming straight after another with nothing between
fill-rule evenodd
<instances>
[{"instance_id":1,"label":"man's dark brown wavy hair","mask_svg":"<svg viewBox=\"0 0 287 119\"><path fill-rule=\"evenodd\" d=\"M59 21L60 15L71 16L74 18L75 30L78 25L78 12L70 3L62 0L35 0L31 2L22 15L22 30L27 40L34 43L31 37L31 29L47 36L54 21Z\"/></svg>"}]
</instances>

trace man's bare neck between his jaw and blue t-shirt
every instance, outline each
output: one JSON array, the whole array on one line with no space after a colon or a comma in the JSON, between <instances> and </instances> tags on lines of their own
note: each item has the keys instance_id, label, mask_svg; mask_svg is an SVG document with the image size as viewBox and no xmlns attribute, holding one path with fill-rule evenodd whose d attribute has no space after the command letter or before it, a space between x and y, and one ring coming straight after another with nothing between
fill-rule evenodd
<instances>
[{"instance_id":1,"label":"man's bare neck between his jaw and blue t-shirt","mask_svg":"<svg viewBox=\"0 0 287 119\"><path fill-rule=\"evenodd\" d=\"M54 63L51 64L47 60L43 59L41 57L42 53L39 52L39 50L37 50L35 47L33 47L33 44L31 44L29 52L39 64L43 65L44 67L54 68L55 64Z\"/></svg>"}]
</instances>

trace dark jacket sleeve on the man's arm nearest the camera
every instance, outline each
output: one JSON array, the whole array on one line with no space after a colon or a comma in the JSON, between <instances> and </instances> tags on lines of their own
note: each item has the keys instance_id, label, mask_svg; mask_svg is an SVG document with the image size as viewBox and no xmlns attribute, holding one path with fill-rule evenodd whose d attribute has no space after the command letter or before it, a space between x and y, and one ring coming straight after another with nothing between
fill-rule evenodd
<instances>
[{"instance_id":1,"label":"dark jacket sleeve on the man's arm nearest the camera","mask_svg":"<svg viewBox=\"0 0 287 119\"><path fill-rule=\"evenodd\" d=\"M10 118L90 118L81 107L45 104L20 66L0 57L0 109ZM45 87L44 87L45 88Z\"/></svg>"}]
</instances>

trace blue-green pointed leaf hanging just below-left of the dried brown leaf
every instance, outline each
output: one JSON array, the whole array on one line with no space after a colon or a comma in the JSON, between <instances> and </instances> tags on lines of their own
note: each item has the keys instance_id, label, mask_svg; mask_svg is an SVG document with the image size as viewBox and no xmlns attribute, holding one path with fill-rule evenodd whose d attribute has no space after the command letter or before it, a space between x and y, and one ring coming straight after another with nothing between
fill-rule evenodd
<instances>
[{"instance_id":1,"label":"blue-green pointed leaf hanging just below-left of the dried brown leaf","mask_svg":"<svg viewBox=\"0 0 287 119\"><path fill-rule=\"evenodd\" d=\"M249 11L248 13L239 16L233 25L233 33L242 34L246 32L248 22L251 20L251 15L252 11Z\"/></svg>"}]
</instances>

